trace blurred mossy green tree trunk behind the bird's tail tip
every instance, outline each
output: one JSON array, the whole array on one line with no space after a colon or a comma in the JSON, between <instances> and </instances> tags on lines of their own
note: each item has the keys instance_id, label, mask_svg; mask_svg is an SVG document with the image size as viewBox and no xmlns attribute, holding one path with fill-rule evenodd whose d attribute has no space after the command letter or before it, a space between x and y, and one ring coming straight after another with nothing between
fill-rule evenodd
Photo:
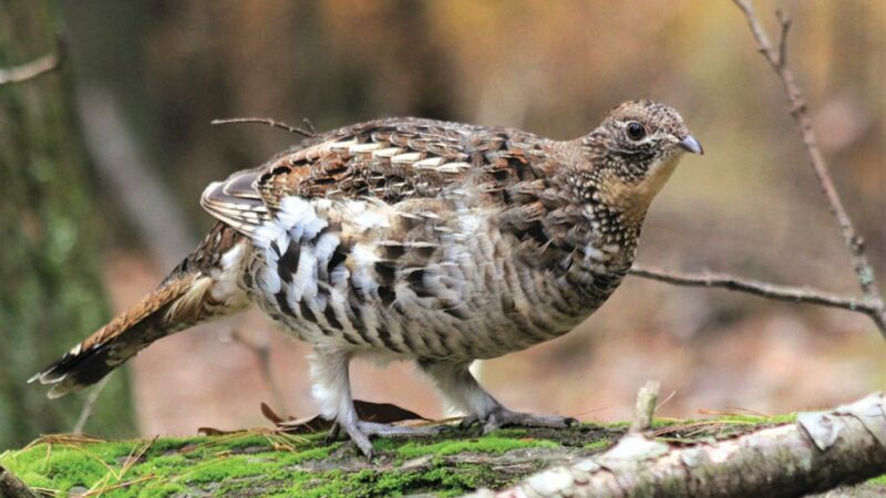
<instances>
[{"instance_id":1,"label":"blurred mossy green tree trunk behind the bird's tail tip","mask_svg":"<svg viewBox=\"0 0 886 498\"><path fill-rule=\"evenodd\" d=\"M0 66L55 48L54 3L0 3ZM97 195L62 68L0 86L0 449L40 433L70 432L83 396L50 402L25 381L101 326L109 307L100 279ZM106 386L91 427L133 430L124 375Z\"/></svg>"}]
</instances>

